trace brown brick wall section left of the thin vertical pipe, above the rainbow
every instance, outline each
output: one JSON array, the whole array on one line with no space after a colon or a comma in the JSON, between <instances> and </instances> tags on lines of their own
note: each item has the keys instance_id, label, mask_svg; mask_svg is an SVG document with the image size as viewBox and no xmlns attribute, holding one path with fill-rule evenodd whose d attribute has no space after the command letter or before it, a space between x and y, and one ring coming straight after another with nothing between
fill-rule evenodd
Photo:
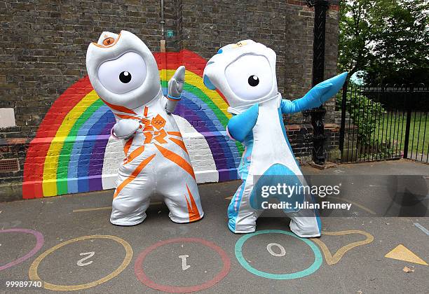
<instances>
[{"instance_id":1,"label":"brown brick wall section left of the thin vertical pipe, above the rainbow","mask_svg":"<svg viewBox=\"0 0 429 294\"><path fill-rule=\"evenodd\" d=\"M159 50L159 6L147 0L0 2L0 108L15 109L17 125L0 129L0 146L9 151L0 159L20 160L20 171L1 173L0 184L22 179L25 151L14 151L25 146L11 145L28 143L55 99L86 76L86 49L101 31L126 28Z\"/></svg>"}]
</instances>

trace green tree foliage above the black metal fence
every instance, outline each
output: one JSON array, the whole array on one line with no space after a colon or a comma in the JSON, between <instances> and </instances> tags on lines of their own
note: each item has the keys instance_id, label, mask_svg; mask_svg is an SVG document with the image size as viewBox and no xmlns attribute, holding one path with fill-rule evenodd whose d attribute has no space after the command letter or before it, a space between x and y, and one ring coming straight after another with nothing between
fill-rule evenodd
<instances>
[{"instance_id":1,"label":"green tree foliage above the black metal fence","mask_svg":"<svg viewBox=\"0 0 429 294\"><path fill-rule=\"evenodd\" d=\"M368 83L429 83L428 0L341 0L339 69Z\"/></svg>"}]
</instances>

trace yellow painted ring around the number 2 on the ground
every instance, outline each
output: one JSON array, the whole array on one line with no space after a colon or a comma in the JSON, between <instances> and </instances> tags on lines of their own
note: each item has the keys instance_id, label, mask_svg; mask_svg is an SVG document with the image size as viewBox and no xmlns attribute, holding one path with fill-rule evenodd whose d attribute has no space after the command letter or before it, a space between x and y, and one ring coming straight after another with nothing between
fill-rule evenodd
<instances>
[{"instance_id":1,"label":"yellow painted ring around the number 2 on the ground","mask_svg":"<svg viewBox=\"0 0 429 294\"><path fill-rule=\"evenodd\" d=\"M43 258L46 258L50 253L53 253L53 251L57 250L58 248L61 248L62 246L66 246L67 244L71 244L77 241L82 241L86 239L111 239L114 241L117 241L119 244L125 248L125 258L121 265L117 269L114 270L114 272L111 272L111 274L104 276L102 279L99 279L97 281L92 281L90 283L81 283L80 285L55 285L55 283L48 283L46 281L43 281L43 288L46 288L48 290L56 290L56 291L71 291L71 290L83 290L88 289L93 286L100 285L101 283L104 283L106 281L109 281L110 279L113 279L115 276L120 274L125 267L127 267L132 259L132 248L130 244L128 244L127 241L115 237L115 236L109 236L109 235L92 235L92 236L83 236L78 237L74 239L70 239L68 241L64 241L60 244L57 244L53 246L52 248L48 249L47 251L41 253L36 260L32 263L31 267L28 270L29 278L33 281L41 281L39 274L37 274L37 267L39 267L40 262L43 260Z\"/></svg>"}]
</instances>

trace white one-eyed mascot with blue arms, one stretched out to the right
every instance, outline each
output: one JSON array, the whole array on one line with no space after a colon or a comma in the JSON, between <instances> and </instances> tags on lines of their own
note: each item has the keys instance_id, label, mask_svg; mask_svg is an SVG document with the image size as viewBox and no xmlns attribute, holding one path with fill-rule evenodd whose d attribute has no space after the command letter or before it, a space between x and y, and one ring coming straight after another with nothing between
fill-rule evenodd
<instances>
[{"instance_id":1,"label":"white one-eyed mascot with blue arms, one stretched out to the right","mask_svg":"<svg viewBox=\"0 0 429 294\"><path fill-rule=\"evenodd\" d=\"M325 80L304 97L290 101L282 99L277 90L275 52L261 43L245 40L226 45L207 62L204 83L224 94L230 106L228 111L233 114L226 131L231 139L245 146L238 169L243 183L228 208L232 232L256 230L257 218L264 207L254 203L261 197L261 188L275 185L279 176L289 186L306 186L287 140L282 114L322 105L341 89L346 76L347 73L342 73ZM291 204L292 200L313 203L312 195L303 191L287 196L287 200ZM320 236L317 211L295 205L282 210L291 218L290 229L296 235Z\"/></svg>"}]
</instances>

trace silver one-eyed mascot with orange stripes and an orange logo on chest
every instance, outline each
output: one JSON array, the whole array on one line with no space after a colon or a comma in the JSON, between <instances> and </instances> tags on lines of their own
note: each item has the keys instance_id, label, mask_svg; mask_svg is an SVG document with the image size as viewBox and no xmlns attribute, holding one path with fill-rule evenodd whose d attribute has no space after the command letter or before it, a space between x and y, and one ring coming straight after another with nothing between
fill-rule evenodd
<instances>
[{"instance_id":1,"label":"silver one-eyed mascot with orange stripes and an orange logo on chest","mask_svg":"<svg viewBox=\"0 0 429 294\"><path fill-rule=\"evenodd\" d=\"M142 223L155 194L164 197L175 223L202 218L191 161L170 114L183 90L184 66L164 97L154 55L137 36L121 31L103 32L97 43L90 43L86 69L95 92L116 117L112 136L124 141L111 223Z\"/></svg>"}]
</instances>

